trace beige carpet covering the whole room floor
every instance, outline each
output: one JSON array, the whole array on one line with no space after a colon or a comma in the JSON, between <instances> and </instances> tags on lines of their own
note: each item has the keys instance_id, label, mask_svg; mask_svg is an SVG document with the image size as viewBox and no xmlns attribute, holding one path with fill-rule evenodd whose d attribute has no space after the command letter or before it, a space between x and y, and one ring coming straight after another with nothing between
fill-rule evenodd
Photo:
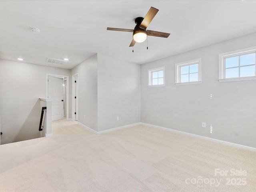
<instances>
[{"instance_id":1,"label":"beige carpet covering the whole room floor","mask_svg":"<svg viewBox=\"0 0 256 192\"><path fill-rule=\"evenodd\" d=\"M256 152L147 126L95 135L60 120L50 138L0 146L0 191L256 192Z\"/></svg>"}]
</instances>

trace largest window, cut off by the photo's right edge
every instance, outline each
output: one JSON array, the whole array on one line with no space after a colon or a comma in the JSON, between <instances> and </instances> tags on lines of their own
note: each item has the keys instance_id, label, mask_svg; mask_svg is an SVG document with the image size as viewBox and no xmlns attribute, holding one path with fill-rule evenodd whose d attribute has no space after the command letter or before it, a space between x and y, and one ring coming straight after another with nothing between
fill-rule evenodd
<instances>
[{"instance_id":1,"label":"largest window, cut off by the photo's right edge","mask_svg":"<svg viewBox=\"0 0 256 192\"><path fill-rule=\"evenodd\" d=\"M256 47L219 54L219 82L254 80Z\"/></svg>"}]
</instances>

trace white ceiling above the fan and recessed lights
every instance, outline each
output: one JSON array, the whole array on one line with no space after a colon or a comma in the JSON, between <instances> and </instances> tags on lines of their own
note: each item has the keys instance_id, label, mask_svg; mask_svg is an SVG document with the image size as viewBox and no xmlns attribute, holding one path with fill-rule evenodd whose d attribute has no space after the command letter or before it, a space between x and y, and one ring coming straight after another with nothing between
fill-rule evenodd
<instances>
[{"instance_id":1,"label":"white ceiling above the fan and recessed lights","mask_svg":"<svg viewBox=\"0 0 256 192\"><path fill-rule=\"evenodd\" d=\"M159 12L147 29L171 35L149 36L148 50L145 41L132 52L132 33L106 30L134 29L151 6ZM256 32L255 10L255 0L1 0L0 58L71 69L102 53L143 64Z\"/></svg>"}]
</instances>

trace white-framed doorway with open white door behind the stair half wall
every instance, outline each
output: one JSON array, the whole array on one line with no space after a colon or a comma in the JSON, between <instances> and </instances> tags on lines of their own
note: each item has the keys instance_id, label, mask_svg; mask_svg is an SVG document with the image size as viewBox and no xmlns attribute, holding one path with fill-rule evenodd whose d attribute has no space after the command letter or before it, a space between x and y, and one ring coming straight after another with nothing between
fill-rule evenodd
<instances>
[{"instance_id":1,"label":"white-framed doorway with open white door behind the stair half wall","mask_svg":"<svg viewBox=\"0 0 256 192\"><path fill-rule=\"evenodd\" d=\"M46 98L52 99L52 121L68 120L68 76L46 74Z\"/></svg>"}]
</instances>

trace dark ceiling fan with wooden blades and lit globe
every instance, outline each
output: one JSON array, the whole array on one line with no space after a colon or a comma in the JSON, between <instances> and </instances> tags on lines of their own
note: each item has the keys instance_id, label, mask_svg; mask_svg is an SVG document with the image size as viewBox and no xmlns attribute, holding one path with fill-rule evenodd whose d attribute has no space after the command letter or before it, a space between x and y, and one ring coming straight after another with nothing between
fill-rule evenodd
<instances>
[{"instance_id":1,"label":"dark ceiling fan with wooden blades and lit globe","mask_svg":"<svg viewBox=\"0 0 256 192\"><path fill-rule=\"evenodd\" d=\"M134 30L132 29L120 29L120 28L107 28L107 30L112 31L124 31L124 32L133 32L133 38L132 42L130 44L130 47L133 47L136 42L144 42L147 38L147 36L155 36L155 37L164 37L168 38L170 33L164 33L164 32L158 32L158 31L151 31L146 30L150 22L153 20L154 16L156 16L158 12L158 9L151 7L146 14L145 18L143 17L137 17L135 18L136 26Z\"/></svg>"}]
</instances>

